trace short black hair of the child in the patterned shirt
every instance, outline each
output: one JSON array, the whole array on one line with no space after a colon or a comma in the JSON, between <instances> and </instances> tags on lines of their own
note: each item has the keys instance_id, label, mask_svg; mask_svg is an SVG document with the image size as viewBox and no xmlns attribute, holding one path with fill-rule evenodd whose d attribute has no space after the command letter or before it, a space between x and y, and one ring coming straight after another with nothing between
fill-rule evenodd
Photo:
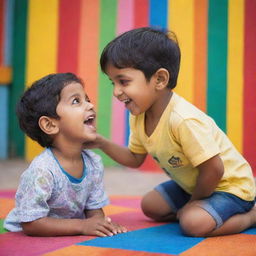
<instances>
[{"instance_id":1,"label":"short black hair of the child in the patterned shirt","mask_svg":"<svg viewBox=\"0 0 256 256\"><path fill-rule=\"evenodd\" d=\"M29 87L16 106L20 128L42 147L52 146L53 139L39 127L41 116L59 119L56 113L62 89L70 83L83 82L72 73L57 73L47 75L35 81Z\"/></svg>"}]
</instances>

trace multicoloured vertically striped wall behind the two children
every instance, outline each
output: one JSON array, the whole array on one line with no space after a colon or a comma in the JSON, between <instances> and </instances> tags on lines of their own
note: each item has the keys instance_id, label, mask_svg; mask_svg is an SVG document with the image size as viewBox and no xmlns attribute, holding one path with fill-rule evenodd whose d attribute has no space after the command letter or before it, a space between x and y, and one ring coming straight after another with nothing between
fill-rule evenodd
<instances>
[{"instance_id":1,"label":"multicoloured vertically striped wall behind the two children","mask_svg":"<svg viewBox=\"0 0 256 256\"><path fill-rule=\"evenodd\" d=\"M14 17L8 103L12 155L31 160L41 150L19 131L14 105L24 84L53 72L81 76L98 112L99 133L126 144L128 113L112 97L99 56L116 35L154 26L177 34L182 61L176 92L216 120L256 173L256 0L13 1L8 10ZM148 159L143 168L156 166Z\"/></svg>"}]
</instances>

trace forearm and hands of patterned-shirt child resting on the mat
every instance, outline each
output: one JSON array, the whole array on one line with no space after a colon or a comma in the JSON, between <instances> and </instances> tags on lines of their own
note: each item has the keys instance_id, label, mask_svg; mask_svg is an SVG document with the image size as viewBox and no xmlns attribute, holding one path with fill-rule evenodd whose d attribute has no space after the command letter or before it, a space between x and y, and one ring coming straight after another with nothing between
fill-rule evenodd
<instances>
[{"instance_id":1,"label":"forearm and hands of patterned-shirt child resting on the mat","mask_svg":"<svg viewBox=\"0 0 256 256\"><path fill-rule=\"evenodd\" d=\"M126 232L124 227L113 224L109 218L105 217L102 209L88 211L87 219L44 217L21 225L24 233L30 236L112 236Z\"/></svg>"}]
</instances>

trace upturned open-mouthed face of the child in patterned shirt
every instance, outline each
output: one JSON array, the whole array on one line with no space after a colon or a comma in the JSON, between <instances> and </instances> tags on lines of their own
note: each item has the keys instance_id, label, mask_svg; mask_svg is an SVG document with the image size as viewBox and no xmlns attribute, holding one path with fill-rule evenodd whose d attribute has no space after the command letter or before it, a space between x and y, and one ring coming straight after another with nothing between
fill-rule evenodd
<instances>
[{"instance_id":1,"label":"upturned open-mouthed face of the child in patterned shirt","mask_svg":"<svg viewBox=\"0 0 256 256\"><path fill-rule=\"evenodd\" d=\"M96 139L95 111L81 84L66 85L56 109L59 134L66 141L83 143Z\"/></svg>"}]
</instances>

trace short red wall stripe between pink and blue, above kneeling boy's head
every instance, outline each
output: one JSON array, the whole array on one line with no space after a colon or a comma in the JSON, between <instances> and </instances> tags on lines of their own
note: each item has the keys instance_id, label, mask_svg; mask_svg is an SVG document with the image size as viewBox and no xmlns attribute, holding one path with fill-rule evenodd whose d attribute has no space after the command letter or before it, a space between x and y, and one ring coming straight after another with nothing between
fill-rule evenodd
<instances>
[{"instance_id":1,"label":"short red wall stripe between pink and blue, above kneeling boy's head","mask_svg":"<svg viewBox=\"0 0 256 256\"><path fill-rule=\"evenodd\" d=\"M146 27L149 24L148 0L134 0L134 28Z\"/></svg>"}]
</instances>

